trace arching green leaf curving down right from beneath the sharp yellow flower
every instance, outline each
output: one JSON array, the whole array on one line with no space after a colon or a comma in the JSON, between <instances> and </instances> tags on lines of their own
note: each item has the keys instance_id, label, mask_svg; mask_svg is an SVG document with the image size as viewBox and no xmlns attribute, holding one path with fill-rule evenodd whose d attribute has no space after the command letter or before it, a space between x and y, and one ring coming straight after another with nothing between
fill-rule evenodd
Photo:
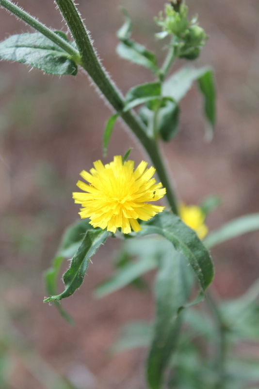
<instances>
[{"instance_id":1,"label":"arching green leaf curving down right from beneath the sharp yellow flower","mask_svg":"<svg viewBox=\"0 0 259 389\"><path fill-rule=\"evenodd\" d=\"M214 276L210 254L194 230L186 226L178 216L163 211L148 222L142 223L141 228L138 235L160 234L187 258L203 291L210 285Z\"/></svg>"}]
</instances>

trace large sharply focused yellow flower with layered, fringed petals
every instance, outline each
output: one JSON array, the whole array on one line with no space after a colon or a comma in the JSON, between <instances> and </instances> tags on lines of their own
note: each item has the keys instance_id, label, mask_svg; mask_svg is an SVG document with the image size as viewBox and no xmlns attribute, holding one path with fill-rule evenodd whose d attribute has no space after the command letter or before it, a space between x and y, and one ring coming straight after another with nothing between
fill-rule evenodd
<instances>
[{"instance_id":1,"label":"large sharply focused yellow flower with layered, fringed petals","mask_svg":"<svg viewBox=\"0 0 259 389\"><path fill-rule=\"evenodd\" d=\"M126 234L141 230L137 219L149 220L164 207L147 204L156 201L165 193L161 182L156 184L151 178L155 169L146 169L147 162L142 161L134 170L134 162L123 163L121 156L103 166L100 160L94 167L80 175L90 185L78 181L77 186L86 193L73 193L75 203L81 204L81 218L90 218L93 227L115 232L118 227Z\"/></svg>"}]
</instances>

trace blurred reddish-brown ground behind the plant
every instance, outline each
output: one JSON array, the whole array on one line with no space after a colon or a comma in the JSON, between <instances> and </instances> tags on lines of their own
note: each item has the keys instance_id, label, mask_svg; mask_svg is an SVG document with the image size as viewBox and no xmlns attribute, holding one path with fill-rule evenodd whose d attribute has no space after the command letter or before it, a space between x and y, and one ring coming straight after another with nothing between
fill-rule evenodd
<instances>
[{"instance_id":1,"label":"blurred reddish-brown ground behind the plant","mask_svg":"<svg viewBox=\"0 0 259 389\"><path fill-rule=\"evenodd\" d=\"M215 69L217 125L213 141L204 141L202 102L193 88L181 102L177 138L162 149L183 201L222 197L222 205L208 219L209 228L215 229L231 218L259 212L259 2L186 2L210 35L195 66ZM66 31L52 0L19 4L48 26ZM115 32L123 21L118 5L133 19L134 39L156 51L162 62L165 52L153 39L159 31L153 18L163 1L80 1L103 65L125 93L152 78L115 53ZM0 40L29 31L0 9ZM175 69L183 64L177 62ZM94 286L112 272L120 242L110 240L99 249L81 289L64 300L75 319L73 327L42 302L42 273L65 227L78 219L71 193L81 170L103 159L102 132L109 115L82 72L58 77L0 63L0 388L71 388L65 379L76 389L145 388L145 353L112 356L109 347L120 325L152 318L151 293L127 287L102 300L91 296ZM129 147L131 159L146 158L116 124L104 161ZM219 295L238 296L258 278L258 232L213 249L213 258ZM152 274L147 279L152 282ZM259 356L259 348L253 353Z\"/></svg>"}]
</instances>

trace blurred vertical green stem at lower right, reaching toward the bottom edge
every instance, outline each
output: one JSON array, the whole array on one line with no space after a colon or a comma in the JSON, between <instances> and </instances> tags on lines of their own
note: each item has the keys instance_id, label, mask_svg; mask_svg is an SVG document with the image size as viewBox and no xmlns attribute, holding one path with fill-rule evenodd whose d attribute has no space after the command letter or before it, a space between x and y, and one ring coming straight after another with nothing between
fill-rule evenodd
<instances>
[{"instance_id":1,"label":"blurred vertical green stem at lower right, reaching toward the bottom edge","mask_svg":"<svg viewBox=\"0 0 259 389\"><path fill-rule=\"evenodd\" d=\"M218 373L218 379L215 383L214 389L224 389L225 383L225 362L226 362L226 328L224 324L224 320L219 311L218 305L214 300L214 297L207 290L206 292L206 300L208 305L210 306L210 310L215 318L215 323L218 332L218 345L217 345L217 354L215 361L215 369Z\"/></svg>"}]
</instances>

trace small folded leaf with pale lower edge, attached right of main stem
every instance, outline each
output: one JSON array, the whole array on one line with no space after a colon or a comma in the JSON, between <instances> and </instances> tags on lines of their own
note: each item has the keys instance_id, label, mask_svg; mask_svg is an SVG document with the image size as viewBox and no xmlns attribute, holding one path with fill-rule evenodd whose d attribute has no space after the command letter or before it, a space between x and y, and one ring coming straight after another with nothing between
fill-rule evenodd
<instances>
[{"instance_id":1,"label":"small folded leaf with pale lower edge, attached right of main stem","mask_svg":"<svg viewBox=\"0 0 259 389\"><path fill-rule=\"evenodd\" d=\"M138 106L150 100L159 99L160 96L160 82L151 82L138 85L137 87L129 89L127 92L123 111L126 112L134 106Z\"/></svg>"}]
</instances>

